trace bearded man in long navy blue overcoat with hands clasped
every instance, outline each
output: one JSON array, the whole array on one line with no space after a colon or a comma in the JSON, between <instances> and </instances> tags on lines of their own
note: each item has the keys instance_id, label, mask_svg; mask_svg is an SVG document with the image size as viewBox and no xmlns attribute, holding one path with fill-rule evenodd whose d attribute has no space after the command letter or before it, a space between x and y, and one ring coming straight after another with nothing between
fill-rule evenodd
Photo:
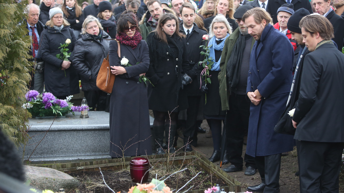
<instances>
[{"instance_id":1,"label":"bearded man in long navy blue overcoat with hands clasped","mask_svg":"<svg viewBox=\"0 0 344 193\"><path fill-rule=\"evenodd\" d=\"M243 21L256 40L250 56L247 96L251 100L246 154L255 157L262 180L250 192L279 192L281 153L293 149L292 135L273 131L283 113L292 83L294 49L271 24L262 8L248 10Z\"/></svg>"}]
</instances>

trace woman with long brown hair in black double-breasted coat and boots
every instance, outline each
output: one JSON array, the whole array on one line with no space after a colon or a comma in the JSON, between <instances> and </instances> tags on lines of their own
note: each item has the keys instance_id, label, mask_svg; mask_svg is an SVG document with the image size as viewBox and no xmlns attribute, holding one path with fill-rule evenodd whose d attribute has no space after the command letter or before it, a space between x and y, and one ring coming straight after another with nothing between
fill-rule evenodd
<instances>
[{"instance_id":1,"label":"woman with long brown hair in black double-breasted coat and boots","mask_svg":"<svg viewBox=\"0 0 344 193\"><path fill-rule=\"evenodd\" d=\"M148 87L148 102L154 113L152 132L157 154L164 154L164 131L169 152L175 152L173 142L178 111L187 108L186 91L182 89L182 75L189 72L184 37L179 32L177 17L171 13L163 14L155 31L147 36L150 56L147 77L154 85Z\"/></svg>"}]
</instances>

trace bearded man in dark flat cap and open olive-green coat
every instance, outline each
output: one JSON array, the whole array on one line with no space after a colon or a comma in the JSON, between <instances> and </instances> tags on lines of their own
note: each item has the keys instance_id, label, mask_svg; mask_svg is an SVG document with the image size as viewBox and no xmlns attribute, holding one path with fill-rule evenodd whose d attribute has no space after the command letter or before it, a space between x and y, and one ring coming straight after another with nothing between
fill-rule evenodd
<instances>
[{"instance_id":1,"label":"bearded man in dark flat cap and open olive-green coat","mask_svg":"<svg viewBox=\"0 0 344 193\"><path fill-rule=\"evenodd\" d=\"M248 34L245 23L241 20L251 5L241 5L234 13L238 28L225 41L220 61L221 72L218 74L220 83L219 92L221 96L222 110L226 113L227 150L231 165L225 172L236 172L243 170L244 134L248 129L248 118L250 116L250 101L246 98L247 76L250 65L251 49L255 39ZM245 175L251 176L256 173L254 158L245 153L246 162Z\"/></svg>"}]
</instances>

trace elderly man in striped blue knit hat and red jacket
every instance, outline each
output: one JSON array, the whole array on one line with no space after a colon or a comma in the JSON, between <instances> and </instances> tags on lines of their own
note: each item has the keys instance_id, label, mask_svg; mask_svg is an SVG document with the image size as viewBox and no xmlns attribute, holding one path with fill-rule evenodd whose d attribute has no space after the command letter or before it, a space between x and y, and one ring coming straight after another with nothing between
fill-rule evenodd
<instances>
[{"instance_id":1,"label":"elderly man in striped blue knit hat and red jacket","mask_svg":"<svg viewBox=\"0 0 344 193\"><path fill-rule=\"evenodd\" d=\"M294 72L295 67L296 67L296 59L298 58L300 48L298 48L299 45L296 43L296 41L291 39L291 33L287 28L288 20L290 16L294 14L293 8L294 8L294 5L291 3L283 4L280 8L278 8L277 10L278 22L275 25L273 25L273 27L275 27L275 29L278 29L281 33L286 35L291 45L294 48L294 63L293 63L293 72Z\"/></svg>"}]
</instances>

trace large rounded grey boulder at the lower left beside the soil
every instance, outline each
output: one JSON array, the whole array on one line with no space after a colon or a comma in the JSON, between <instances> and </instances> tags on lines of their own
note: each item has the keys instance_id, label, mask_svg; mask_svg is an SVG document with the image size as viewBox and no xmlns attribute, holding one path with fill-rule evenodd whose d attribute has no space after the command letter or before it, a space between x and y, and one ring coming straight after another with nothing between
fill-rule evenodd
<instances>
[{"instance_id":1,"label":"large rounded grey boulder at the lower left beside the soil","mask_svg":"<svg viewBox=\"0 0 344 193\"><path fill-rule=\"evenodd\" d=\"M55 169L34 166L24 166L24 169L26 179L30 180L30 186L36 189L57 192L63 188L68 193L81 185L79 180Z\"/></svg>"}]
</instances>

